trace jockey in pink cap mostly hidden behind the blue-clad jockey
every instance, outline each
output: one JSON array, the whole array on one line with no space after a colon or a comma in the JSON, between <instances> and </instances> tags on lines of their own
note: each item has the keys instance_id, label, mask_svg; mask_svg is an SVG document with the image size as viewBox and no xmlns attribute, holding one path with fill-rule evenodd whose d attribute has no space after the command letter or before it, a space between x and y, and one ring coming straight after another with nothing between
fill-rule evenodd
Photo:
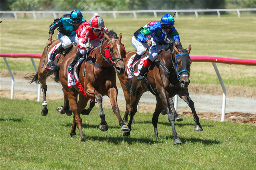
<instances>
[{"instance_id":1,"label":"jockey in pink cap mostly hidden behind the blue-clad jockey","mask_svg":"<svg viewBox=\"0 0 256 170\"><path fill-rule=\"evenodd\" d=\"M144 52L146 51L145 48L148 48L147 43L141 43L140 41L138 41L137 39L137 35L140 33L141 30L143 30L144 28L147 27L151 27L153 25L153 23L155 23L157 21L151 21L149 24L146 24L145 26L139 28L136 32L134 32L132 38L131 38L131 44L133 45L133 47L137 50L136 55L134 56L132 62L131 62L131 66L129 68L129 70L133 71L133 63L136 60L139 60L140 57L144 54ZM144 48L145 47L145 48Z\"/></svg>"}]
</instances>

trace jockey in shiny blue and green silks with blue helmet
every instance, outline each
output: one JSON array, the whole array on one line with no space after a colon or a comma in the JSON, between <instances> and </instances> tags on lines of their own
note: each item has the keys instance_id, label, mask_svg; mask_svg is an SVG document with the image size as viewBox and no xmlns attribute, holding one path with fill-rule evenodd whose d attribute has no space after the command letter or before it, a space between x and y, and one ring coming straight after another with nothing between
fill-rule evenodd
<instances>
[{"instance_id":1,"label":"jockey in shiny blue and green silks with blue helmet","mask_svg":"<svg viewBox=\"0 0 256 170\"><path fill-rule=\"evenodd\" d=\"M151 66L152 62L156 60L159 50L165 49L167 43L165 42L165 37L172 38L175 44L180 45L179 33L175 30L174 19L170 14L165 14L161 21L155 22L153 26L144 28L137 35L137 39L142 43L147 43L149 48L149 56L145 60L140 74L137 77L137 81L142 81L144 74ZM151 35L151 39L146 38L147 35ZM152 46L151 46L152 45Z\"/></svg>"}]
</instances>

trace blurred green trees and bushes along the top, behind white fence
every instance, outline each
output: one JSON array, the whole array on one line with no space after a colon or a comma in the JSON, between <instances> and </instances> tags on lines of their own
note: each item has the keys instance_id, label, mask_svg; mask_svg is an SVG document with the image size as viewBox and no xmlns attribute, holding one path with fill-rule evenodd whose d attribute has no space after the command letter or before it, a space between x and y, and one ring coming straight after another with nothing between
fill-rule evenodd
<instances>
[{"instance_id":1,"label":"blurred green trees and bushes along the top, behind white fence","mask_svg":"<svg viewBox=\"0 0 256 170\"><path fill-rule=\"evenodd\" d=\"M125 11L256 8L256 0L0 0L1 11Z\"/></svg>"}]
</instances>

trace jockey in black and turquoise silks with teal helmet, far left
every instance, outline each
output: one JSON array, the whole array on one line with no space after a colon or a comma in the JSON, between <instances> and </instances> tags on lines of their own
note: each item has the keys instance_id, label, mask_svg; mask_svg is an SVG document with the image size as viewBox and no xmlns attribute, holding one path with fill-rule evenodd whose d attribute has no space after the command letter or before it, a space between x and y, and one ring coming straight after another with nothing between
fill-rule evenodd
<instances>
[{"instance_id":1,"label":"jockey in black and turquoise silks with teal helmet, far left","mask_svg":"<svg viewBox=\"0 0 256 170\"><path fill-rule=\"evenodd\" d=\"M58 39L61 45L53 53L51 53L49 63L53 63L55 56L59 52L71 47L72 42L75 42L76 30L83 22L85 22L85 20L79 10L73 10L70 14L65 14L62 16L62 18L56 18L54 20L54 22L50 25L50 30L48 31L49 39L46 43L46 47L52 44L52 36L56 28L59 31Z\"/></svg>"}]
</instances>

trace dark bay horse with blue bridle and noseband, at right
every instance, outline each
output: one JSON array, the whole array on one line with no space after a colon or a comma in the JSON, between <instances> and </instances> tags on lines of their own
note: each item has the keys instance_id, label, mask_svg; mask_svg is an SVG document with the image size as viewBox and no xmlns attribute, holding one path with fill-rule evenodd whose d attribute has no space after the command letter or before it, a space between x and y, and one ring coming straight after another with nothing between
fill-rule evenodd
<instances>
[{"instance_id":1,"label":"dark bay horse with blue bridle and noseband, at right","mask_svg":"<svg viewBox=\"0 0 256 170\"><path fill-rule=\"evenodd\" d=\"M177 135L174 126L174 115L171 113L169 98L172 98L176 94L182 98L188 106L191 108L191 111L194 116L195 131L202 131L202 126L199 123L199 118L196 114L196 110L194 107L194 102L190 99L188 93L188 85L190 83L189 74L190 74L190 64L191 60L189 57L189 53L191 50L191 45L188 49L183 49L182 46L175 46L173 41L169 40L169 47L159 53L155 62L152 63L148 73L145 74L147 77L144 79L148 79L148 81L138 82L137 76L133 76L130 81L130 85L128 86L131 90L131 116L128 125L128 128L131 130L132 119L135 113L137 112L137 105L139 100L144 92L151 88L151 91L155 93L156 96L156 108L152 117L152 123L155 131L155 138L158 138L157 132L157 123L158 117L161 113L162 109L165 108L168 114L168 120L171 123L172 127L172 136L174 138L173 143L178 144L182 143L180 138ZM143 57L142 57L143 58ZM141 59L142 59L141 58ZM140 62L141 62L140 59ZM170 60L171 59L171 60ZM135 66L137 69L139 64L138 62ZM137 69L138 70L138 69ZM148 82L148 83L147 83ZM150 86L149 86L150 85ZM128 90L128 89L127 89ZM123 132L124 136L129 136L129 132Z\"/></svg>"}]
</instances>

